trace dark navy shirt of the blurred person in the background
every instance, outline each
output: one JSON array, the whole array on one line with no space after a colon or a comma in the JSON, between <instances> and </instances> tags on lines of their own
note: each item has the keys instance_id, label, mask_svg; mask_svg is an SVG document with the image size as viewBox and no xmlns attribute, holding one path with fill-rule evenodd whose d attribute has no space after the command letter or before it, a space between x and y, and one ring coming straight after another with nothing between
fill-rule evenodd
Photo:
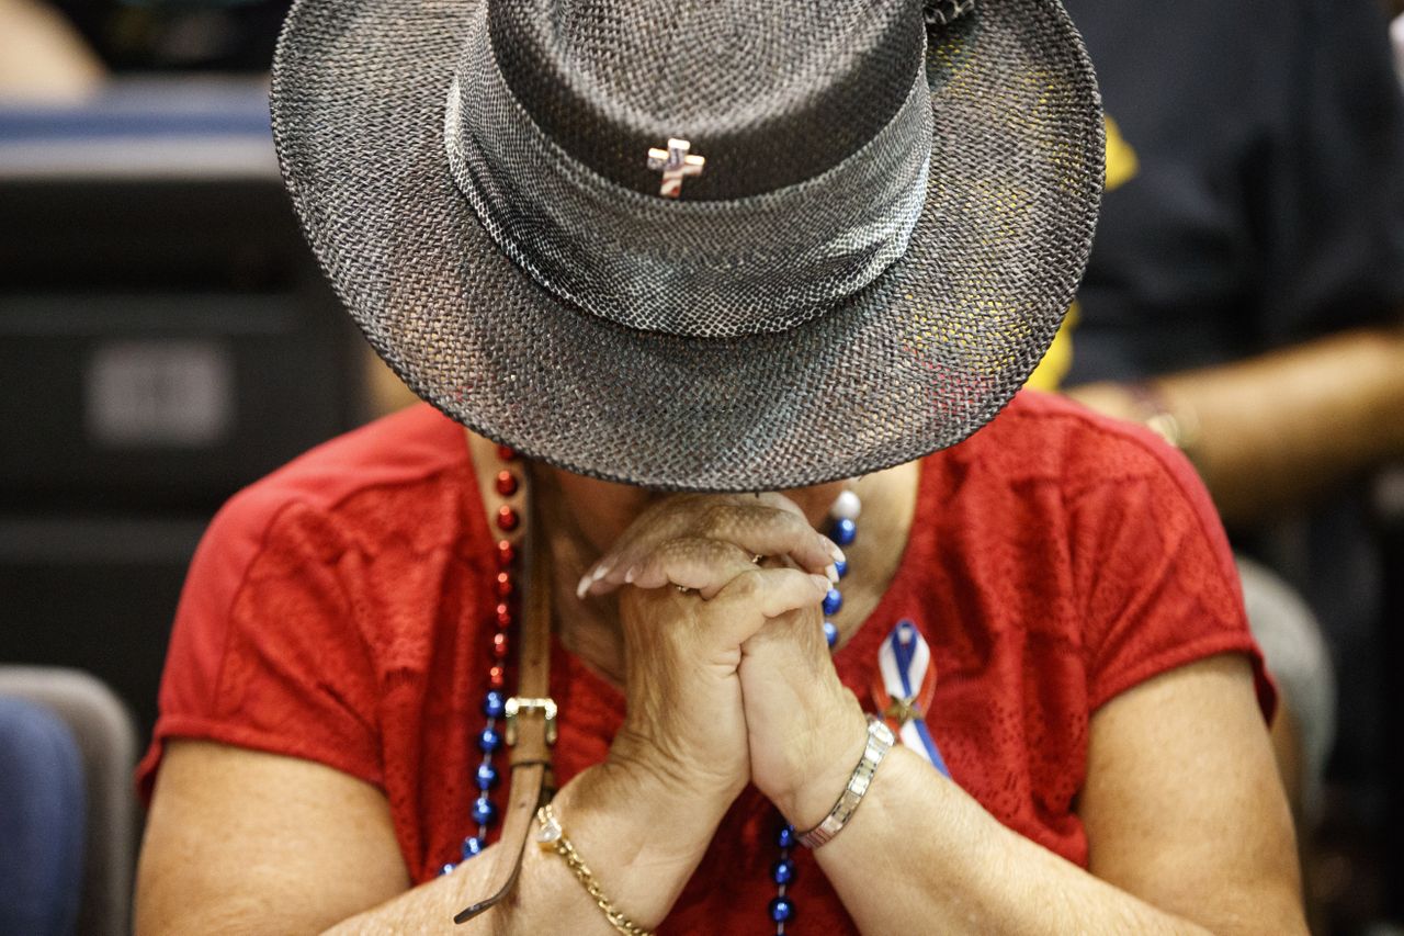
<instances>
[{"instance_id":1,"label":"dark navy shirt of the blurred person in the background","mask_svg":"<svg viewBox=\"0 0 1404 936\"><path fill-rule=\"evenodd\" d=\"M1377 0L1067 0L1136 153L1067 385L1217 364L1404 306L1404 100Z\"/></svg>"}]
</instances>

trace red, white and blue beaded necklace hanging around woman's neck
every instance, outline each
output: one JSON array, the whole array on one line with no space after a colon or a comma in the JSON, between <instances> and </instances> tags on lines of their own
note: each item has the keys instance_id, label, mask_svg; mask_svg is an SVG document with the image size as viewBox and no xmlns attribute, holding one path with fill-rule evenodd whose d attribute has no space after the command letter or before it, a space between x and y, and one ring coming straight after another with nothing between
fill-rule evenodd
<instances>
[{"instance_id":1,"label":"red, white and blue beaded necklace hanging around woman's neck","mask_svg":"<svg viewBox=\"0 0 1404 936\"><path fill-rule=\"evenodd\" d=\"M497 824L498 807L493 801L493 791L498 787L500 770L497 752L503 746L503 735L498 731L498 721L507 711L507 658L514 641L514 625L517 621L517 558L521 551L521 523L522 510L519 496L522 493L522 476L514 471L518 461L517 453L498 446L497 454L505 467L497 472L494 488L503 498L503 503L491 512L491 523L497 533L497 575L494 579L494 594L497 604L493 610L491 659L487 670L487 694L483 697L482 713L486 718L482 731L477 734L477 749L482 760L475 772L473 783L477 795L469 808L469 815L477 826L476 832L465 836L461 847L463 862L475 857L487 847L489 831ZM852 490L842 490L830 507L828 538L840 547L852 545L858 537L858 516L862 512L862 502ZM835 562L840 580L848 575L848 562ZM830 620L844 606L844 594L838 585L824 594L824 639L833 651L838 642L838 627ZM943 765L942 765L943 767ZM775 923L776 936L785 936L785 925L795 918L795 901L789 897L789 887L795 881L796 864L792 857L797 835L795 826L781 817L779 831L775 835L775 845L779 857L771 866L771 880L775 884L775 897L767 905L767 914ZM444 864L441 874L448 874L456 867L455 863Z\"/></svg>"}]
</instances>

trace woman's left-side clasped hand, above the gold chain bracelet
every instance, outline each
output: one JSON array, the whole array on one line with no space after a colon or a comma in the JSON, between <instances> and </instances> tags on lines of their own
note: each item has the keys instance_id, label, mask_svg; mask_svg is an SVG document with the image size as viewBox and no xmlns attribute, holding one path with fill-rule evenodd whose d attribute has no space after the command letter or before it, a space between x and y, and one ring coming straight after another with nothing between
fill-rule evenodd
<instances>
[{"instance_id":1,"label":"woman's left-side clasped hand, above the gold chain bracelet","mask_svg":"<svg viewBox=\"0 0 1404 936\"><path fill-rule=\"evenodd\" d=\"M817 607L830 583L753 558L774 551L809 569L834 561L831 544L796 514L775 499L670 498L625 531L597 564L602 575L583 582L595 594L637 586L619 596L628 715L612 763L709 800L730 802L746 786L743 646L768 621Z\"/></svg>"}]
</instances>

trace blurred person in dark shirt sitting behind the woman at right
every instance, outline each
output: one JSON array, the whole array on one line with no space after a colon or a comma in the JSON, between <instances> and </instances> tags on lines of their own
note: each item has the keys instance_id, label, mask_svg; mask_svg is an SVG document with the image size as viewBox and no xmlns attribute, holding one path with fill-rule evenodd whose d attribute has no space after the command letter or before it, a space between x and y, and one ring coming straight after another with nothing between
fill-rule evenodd
<instances>
[{"instance_id":1,"label":"blurred person in dark shirt sitting behind the woman at right","mask_svg":"<svg viewBox=\"0 0 1404 936\"><path fill-rule=\"evenodd\" d=\"M1068 0L1068 11L1106 103L1108 193L1039 382L1147 423L1191 457L1240 552L1257 558L1243 559L1245 599L1287 701L1275 742L1299 815L1316 815L1334 732L1332 818L1369 835L1397 821L1386 725L1398 701L1384 679L1397 661L1384 654L1386 558L1362 483L1404 457L1404 103L1386 11L1377 0ZM1393 842L1386 832L1367 847ZM1318 897L1338 898L1341 926L1389 899L1369 874L1345 878L1316 876L1339 891Z\"/></svg>"}]
</instances>

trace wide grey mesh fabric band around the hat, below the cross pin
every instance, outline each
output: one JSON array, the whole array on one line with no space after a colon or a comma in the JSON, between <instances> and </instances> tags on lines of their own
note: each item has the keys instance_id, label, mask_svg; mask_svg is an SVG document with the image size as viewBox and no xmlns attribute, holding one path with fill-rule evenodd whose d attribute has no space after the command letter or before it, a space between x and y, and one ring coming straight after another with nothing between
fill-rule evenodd
<instances>
[{"instance_id":1,"label":"wide grey mesh fabric band around the hat, below the cross pin","mask_svg":"<svg viewBox=\"0 0 1404 936\"><path fill-rule=\"evenodd\" d=\"M674 201L604 178L541 131L497 67L487 6L448 93L449 167L498 247L567 302L649 332L782 332L906 253L931 162L924 67L892 121L823 174L748 198ZM708 155L705 139L694 148Z\"/></svg>"}]
</instances>

